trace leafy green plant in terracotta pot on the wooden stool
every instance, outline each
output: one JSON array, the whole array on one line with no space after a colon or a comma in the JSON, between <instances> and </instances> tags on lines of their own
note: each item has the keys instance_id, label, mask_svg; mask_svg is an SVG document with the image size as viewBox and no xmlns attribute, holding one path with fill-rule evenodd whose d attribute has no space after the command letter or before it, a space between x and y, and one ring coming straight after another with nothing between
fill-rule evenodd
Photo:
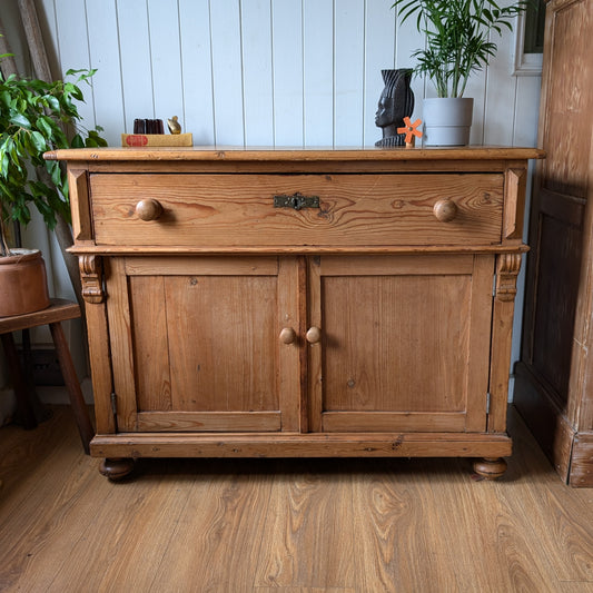
<instances>
[{"instance_id":1,"label":"leafy green plant in terracotta pot on the wooden stool","mask_svg":"<svg viewBox=\"0 0 593 593\"><path fill-rule=\"evenodd\" d=\"M0 56L0 59L6 55ZM76 82L45 82L0 72L0 316L39 310L49 305L45 264L38 250L9 245L9 223L27 225L30 206L53 229L57 218L70 218L65 171L43 160L56 148L106 146L100 128L73 132L80 121L77 83L93 70L69 70Z\"/></svg>"}]
</instances>

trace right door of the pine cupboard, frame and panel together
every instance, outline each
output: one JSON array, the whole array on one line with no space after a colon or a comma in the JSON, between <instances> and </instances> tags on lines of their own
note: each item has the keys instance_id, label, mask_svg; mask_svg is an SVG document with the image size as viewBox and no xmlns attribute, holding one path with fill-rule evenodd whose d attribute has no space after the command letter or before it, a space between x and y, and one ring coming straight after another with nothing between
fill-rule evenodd
<instances>
[{"instance_id":1,"label":"right door of the pine cupboard, frame and panel together","mask_svg":"<svg viewBox=\"0 0 593 593\"><path fill-rule=\"evenodd\" d=\"M312 258L310 428L485 431L493 269L482 255Z\"/></svg>"}]
</instances>

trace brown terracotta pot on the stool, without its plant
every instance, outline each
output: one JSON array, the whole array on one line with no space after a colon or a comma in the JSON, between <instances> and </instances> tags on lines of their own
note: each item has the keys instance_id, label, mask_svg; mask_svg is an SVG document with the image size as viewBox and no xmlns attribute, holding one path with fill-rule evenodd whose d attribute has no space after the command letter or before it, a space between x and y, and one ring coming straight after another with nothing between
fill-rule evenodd
<instances>
[{"instance_id":1,"label":"brown terracotta pot on the stool, without its plant","mask_svg":"<svg viewBox=\"0 0 593 593\"><path fill-rule=\"evenodd\" d=\"M0 317L49 307L46 264L38 249L12 249L0 257Z\"/></svg>"}]
</instances>

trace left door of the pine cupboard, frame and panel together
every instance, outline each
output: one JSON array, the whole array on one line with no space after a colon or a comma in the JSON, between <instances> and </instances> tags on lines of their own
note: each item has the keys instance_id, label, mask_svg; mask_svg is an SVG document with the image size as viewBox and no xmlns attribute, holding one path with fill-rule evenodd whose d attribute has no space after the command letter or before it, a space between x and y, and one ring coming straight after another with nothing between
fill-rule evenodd
<instances>
[{"instance_id":1,"label":"left door of the pine cupboard, frame and panel together","mask_svg":"<svg viewBox=\"0 0 593 593\"><path fill-rule=\"evenodd\" d=\"M121 257L107 270L118 431L298 429L296 258Z\"/></svg>"}]
</instances>

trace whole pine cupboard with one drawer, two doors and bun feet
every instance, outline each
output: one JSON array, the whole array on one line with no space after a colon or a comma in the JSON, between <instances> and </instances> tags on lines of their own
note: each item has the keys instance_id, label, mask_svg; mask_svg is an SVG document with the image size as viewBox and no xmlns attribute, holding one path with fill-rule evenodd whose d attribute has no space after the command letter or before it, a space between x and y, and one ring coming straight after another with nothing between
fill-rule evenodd
<instances>
[{"instance_id":1,"label":"whole pine cupboard with one drawer, two doors and bun feet","mask_svg":"<svg viewBox=\"0 0 593 593\"><path fill-rule=\"evenodd\" d=\"M101 471L465 456L496 477L521 148L76 149Z\"/></svg>"}]
</instances>

